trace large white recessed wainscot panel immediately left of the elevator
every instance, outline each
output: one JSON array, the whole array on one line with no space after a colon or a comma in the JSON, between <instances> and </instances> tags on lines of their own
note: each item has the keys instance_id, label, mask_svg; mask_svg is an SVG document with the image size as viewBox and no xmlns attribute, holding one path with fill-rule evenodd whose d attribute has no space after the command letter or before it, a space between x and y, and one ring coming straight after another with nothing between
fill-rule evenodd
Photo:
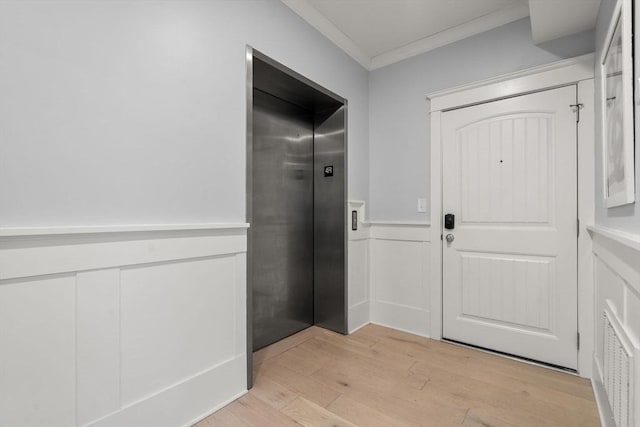
<instances>
[{"instance_id":1,"label":"large white recessed wainscot panel immediately left of the elevator","mask_svg":"<svg viewBox=\"0 0 640 427\"><path fill-rule=\"evenodd\" d=\"M231 256L121 271L125 406L233 357L234 267Z\"/></svg>"}]
</instances>

